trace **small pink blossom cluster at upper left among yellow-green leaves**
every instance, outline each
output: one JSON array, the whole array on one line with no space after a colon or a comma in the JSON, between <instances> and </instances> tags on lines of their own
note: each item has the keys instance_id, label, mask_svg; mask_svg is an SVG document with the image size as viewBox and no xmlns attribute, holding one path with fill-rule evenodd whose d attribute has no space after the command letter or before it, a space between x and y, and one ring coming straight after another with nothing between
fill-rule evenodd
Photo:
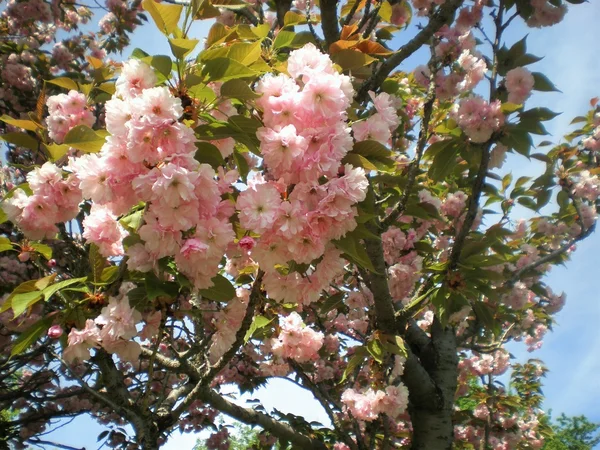
<instances>
[{"instance_id":1,"label":"small pink blossom cluster at upper left among yellow-green leaves","mask_svg":"<svg viewBox=\"0 0 600 450\"><path fill-rule=\"evenodd\" d=\"M66 134L77 125L94 124L94 114L87 107L85 95L77 91L69 91L68 94L53 95L48 98L48 135L50 138L62 144Z\"/></svg>"}]
</instances>

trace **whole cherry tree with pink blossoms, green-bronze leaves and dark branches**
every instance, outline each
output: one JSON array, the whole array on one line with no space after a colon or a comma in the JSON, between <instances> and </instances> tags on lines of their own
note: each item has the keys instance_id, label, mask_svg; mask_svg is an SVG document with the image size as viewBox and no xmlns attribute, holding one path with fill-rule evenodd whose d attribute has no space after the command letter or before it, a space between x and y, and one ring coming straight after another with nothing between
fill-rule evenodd
<instances>
[{"instance_id":1,"label":"whole cherry tree with pink blossoms, green-bronze leaves and dark branches","mask_svg":"<svg viewBox=\"0 0 600 450\"><path fill-rule=\"evenodd\" d=\"M11 0L4 442L89 414L113 448L228 448L225 415L265 449L542 448L546 369L505 344L565 302L544 276L594 230L600 110L538 139L557 113L528 99L556 88L505 37L568 3L108 0L85 34L89 7ZM146 17L172 54L108 59ZM273 377L330 423L221 390Z\"/></svg>"}]
</instances>

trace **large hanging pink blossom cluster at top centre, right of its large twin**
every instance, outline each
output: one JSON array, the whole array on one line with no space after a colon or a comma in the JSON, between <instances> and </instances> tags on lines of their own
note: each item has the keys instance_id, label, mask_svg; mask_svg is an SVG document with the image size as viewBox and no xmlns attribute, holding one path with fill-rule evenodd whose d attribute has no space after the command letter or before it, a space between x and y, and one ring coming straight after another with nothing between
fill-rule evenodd
<instances>
[{"instance_id":1,"label":"large hanging pink blossom cluster at top centre, right of its large twin","mask_svg":"<svg viewBox=\"0 0 600 450\"><path fill-rule=\"evenodd\" d=\"M353 145L346 125L350 79L312 44L290 54L288 72L259 82L266 177L240 193L236 208L242 227L260 235L251 257L266 272L270 297L307 304L341 273L344 262L330 241L356 227L354 205L365 199L368 182L363 169L341 165ZM306 277L275 269L319 258Z\"/></svg>"}]
</instances>

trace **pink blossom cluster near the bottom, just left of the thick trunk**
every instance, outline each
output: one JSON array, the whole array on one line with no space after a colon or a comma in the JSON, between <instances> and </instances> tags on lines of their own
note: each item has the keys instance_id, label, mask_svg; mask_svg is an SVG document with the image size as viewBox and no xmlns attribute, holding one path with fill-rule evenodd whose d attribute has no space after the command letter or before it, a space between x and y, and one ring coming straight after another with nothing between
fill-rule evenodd
<instances>
[{"instance_id":1,"label":"pink blossom cluster near the bottom, just left of the thick trunk","mask_svg":"<svg viewBox=\"0 0 600 450\"><path fill-rule=\"evenodd\" d=\"M385 390L346 389L342 394L342 403L359 420L371 422L377 419L379 414L387 414L395 419L408 406L408 389L403 383L387 386Z\"/></svg>"}]
</instances>

